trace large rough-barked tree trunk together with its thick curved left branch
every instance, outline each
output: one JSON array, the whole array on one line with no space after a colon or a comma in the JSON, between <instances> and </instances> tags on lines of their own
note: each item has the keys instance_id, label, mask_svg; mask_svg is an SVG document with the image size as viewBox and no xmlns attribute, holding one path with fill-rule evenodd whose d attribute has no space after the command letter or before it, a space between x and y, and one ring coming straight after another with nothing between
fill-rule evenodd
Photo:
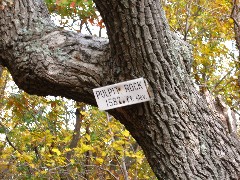
<instances>
[{"instance_id":1,"label":"large rough-barked tree trunk together with its thick curved left branch","mask_svg":"<svg viewBox=\"0 0 240 180\"><path fill-rule=\"evenodd\" d=\"M159 0L95 0L109 42L61 30L42 0L0 11L0 60L30 94L96 105L92 89L144 77L151 101L109 111L159 179L239 179L240 143L198 95L189 46L170 32Z\"/></svg>"}]
</instances>

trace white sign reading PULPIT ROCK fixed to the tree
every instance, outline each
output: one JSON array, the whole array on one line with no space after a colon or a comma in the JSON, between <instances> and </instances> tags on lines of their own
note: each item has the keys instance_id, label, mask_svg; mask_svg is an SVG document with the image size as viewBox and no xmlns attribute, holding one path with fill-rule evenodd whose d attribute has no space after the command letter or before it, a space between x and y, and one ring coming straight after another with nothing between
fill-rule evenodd
<instances>
[{"instance_id":1,"label":"white sign reading PULPIT ROCK fixed to the tree","mask_svg":"<svg viewBox=\"0 0 240 180\"><path fill-rule=\"evenodd\" d=\"M150 100L143 78L96 88L93 89L93 93L100 110L108 110Z\"/></svg>"}]
</instances>

